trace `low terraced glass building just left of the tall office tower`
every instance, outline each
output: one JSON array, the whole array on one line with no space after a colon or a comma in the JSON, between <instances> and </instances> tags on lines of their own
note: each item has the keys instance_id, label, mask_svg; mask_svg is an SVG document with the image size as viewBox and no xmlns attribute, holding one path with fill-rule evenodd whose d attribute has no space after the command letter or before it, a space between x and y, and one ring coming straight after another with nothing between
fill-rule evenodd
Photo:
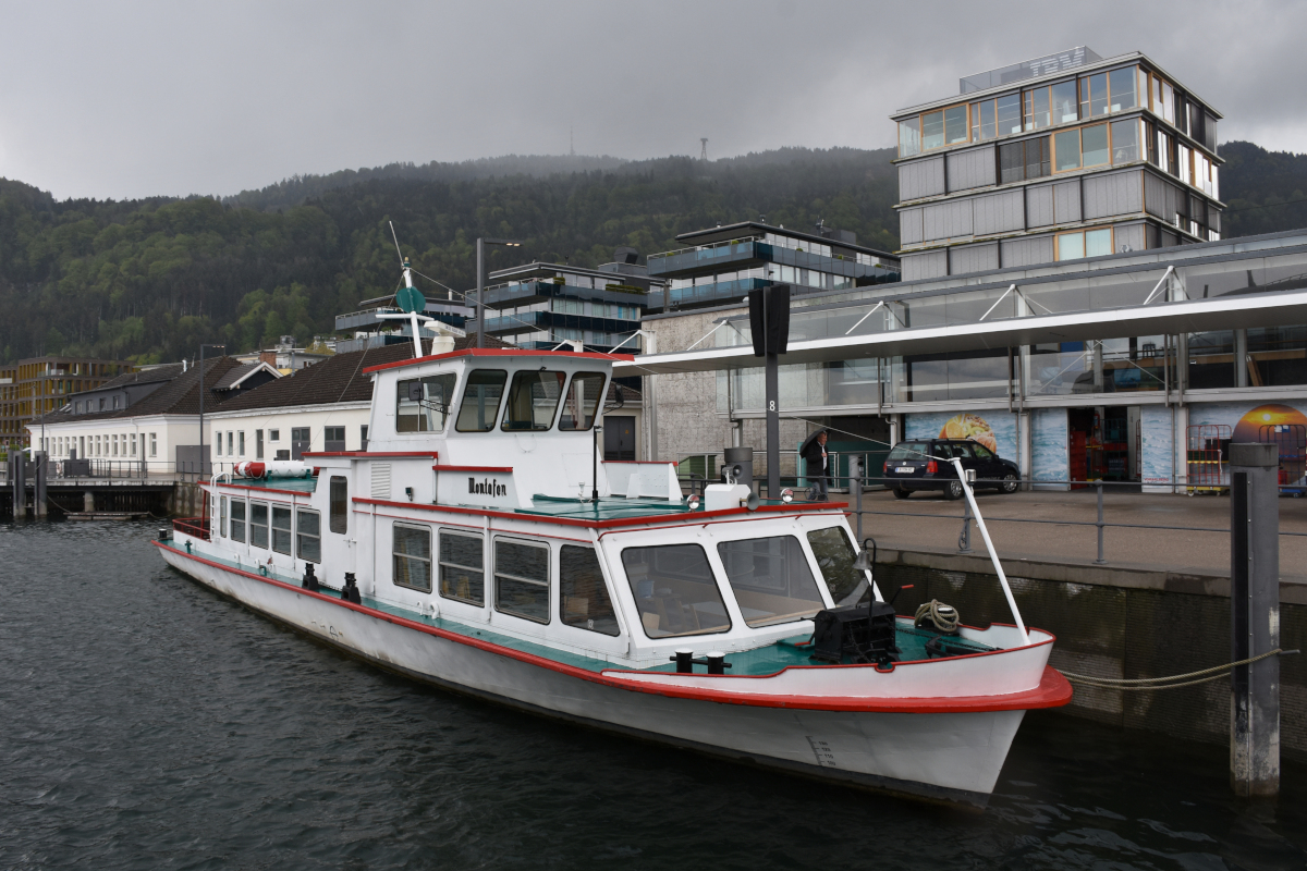
<instances>
[{"instance_id":1,"label":"low terraced glass building just left of the tall office tower","mask_svg":"<svg viewBox=\"0 0 1307 871\"><path fill-rule=\"evenodd\" d=\"M852 290L898 281L898 257L857 244L847 230L786 230L745 221L684 232L685 248L650 255L650 276L667 279L665 294L654 294L651 311L724 306L750 290L787 283L796 295Z\"/></svg>"}]
</instances>

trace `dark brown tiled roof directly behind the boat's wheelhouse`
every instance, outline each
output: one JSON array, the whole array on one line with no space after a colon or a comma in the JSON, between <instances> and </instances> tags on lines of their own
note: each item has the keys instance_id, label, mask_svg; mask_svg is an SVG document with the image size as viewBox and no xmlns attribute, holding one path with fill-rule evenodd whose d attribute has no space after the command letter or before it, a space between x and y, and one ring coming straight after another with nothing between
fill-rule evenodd
<instances>
[{"instance_id":1,"label":"dark brown tiled roof directly behind the boat's wheelhouse","mask_svg":"<svg viewBox=\"0 0 1307 871\"><path fill-rule=\"evenodd\" d=\"M423 351L431 347L430 340L422 340ZM454 340L455 350L476 347L477 337ZM512 347L494 336L486 336L486 347ZM397 363L413 358L413 345L384 345L366 351L336 354L322 363L297 370L291 375L255 388L248 393L222 404L223 411L250 411L255 409L278 409L294 405L329 405L333 402L371 402L372 376L363 372L371 366Z\"/></svg>"}]
</instances>

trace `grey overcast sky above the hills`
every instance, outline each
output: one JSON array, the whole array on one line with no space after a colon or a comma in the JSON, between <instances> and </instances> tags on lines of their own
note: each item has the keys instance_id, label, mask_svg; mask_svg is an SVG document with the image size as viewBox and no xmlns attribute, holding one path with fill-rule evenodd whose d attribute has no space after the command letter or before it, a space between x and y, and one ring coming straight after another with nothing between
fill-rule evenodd
<instances>
[{"instance_id":1,"label":"grey overcast sky above the hills","mask_svg":"<svg viewBox=\"0 0 1307 871\"><path fill-rule=\"evenodd\" d=\"M1302 0L0 0L0 176L123 198L566 154L570 132L625 158L882 148L895 108L1077 44L1148 54L1222 141L1307 151L1304 34Z\"/></svg>"}]
</instances>

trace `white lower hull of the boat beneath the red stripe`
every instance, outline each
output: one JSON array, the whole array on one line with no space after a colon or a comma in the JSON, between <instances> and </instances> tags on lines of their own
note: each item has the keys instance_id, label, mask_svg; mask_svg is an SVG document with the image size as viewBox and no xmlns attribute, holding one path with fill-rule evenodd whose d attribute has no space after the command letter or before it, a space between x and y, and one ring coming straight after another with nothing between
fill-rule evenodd
<instances>
[{"instance_id":1,"label":"white lower hull of the boat beneath the red stripe","mask_svg":"<svg viewBox=\"0 0 1307 871\"><path fill-rule=\"evenodd\" d=\"M829 781L983 806L1025 714L765 706L614 686L158 546L170 565L200 584L379 667L524 710Z\"/></svg>"}]
</instances>

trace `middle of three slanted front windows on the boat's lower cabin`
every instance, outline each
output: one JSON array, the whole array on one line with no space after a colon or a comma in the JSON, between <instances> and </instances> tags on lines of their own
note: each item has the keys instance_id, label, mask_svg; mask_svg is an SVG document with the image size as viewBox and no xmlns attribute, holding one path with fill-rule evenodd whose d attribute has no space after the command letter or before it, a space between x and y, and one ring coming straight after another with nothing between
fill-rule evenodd
<instances>
[{"instance_id":1,"label":"middle of three slanted front windows on the boat's lower cabin","mask_svg":"<svg viewBox=\"0 0 1307 871\"><path fill-rule=\"evenodd\" d=\"M804 620L826 607L793 535L721 542L718 555L748 626Z\"/></svg>"}]
</instances>

